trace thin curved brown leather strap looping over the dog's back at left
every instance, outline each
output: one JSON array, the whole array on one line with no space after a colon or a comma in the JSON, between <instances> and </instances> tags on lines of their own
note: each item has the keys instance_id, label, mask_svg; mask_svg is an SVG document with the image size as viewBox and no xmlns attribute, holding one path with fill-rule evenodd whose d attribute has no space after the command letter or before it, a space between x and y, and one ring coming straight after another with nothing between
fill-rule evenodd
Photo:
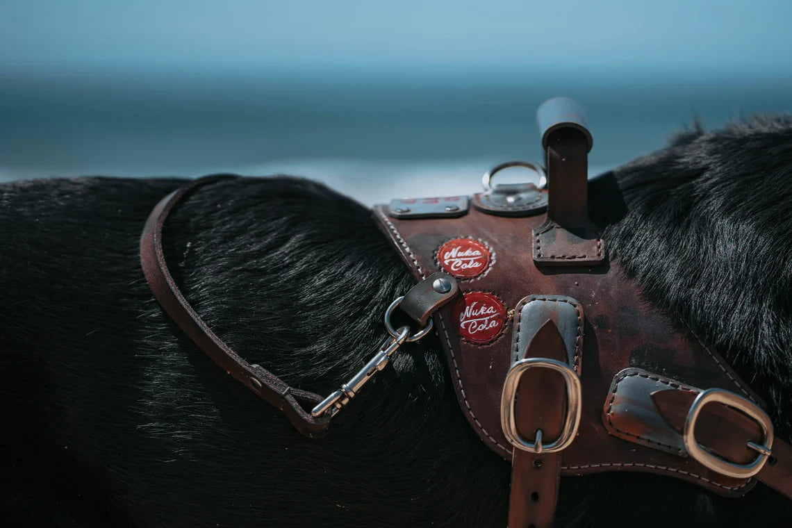
<instances>
[{"instance_id":1,"label":"thin curved brown leather strap looping over the dog's back at left","mask_svg":"<svg viewBox=\"0 0 792 528\"><path fill-rule=\"evenodd\" d=\"M284 412L291 424L303 435L317 438L326 434L330 419L314 418L301 404L312 408L322 401L322 397L288 386L268 370L242 359L223 340L215 336L195 310L192 310L168 271L162 251L162 226L165 225L170 211L196 188L229 178L234 176L215 175L192 181L171 192L154 207L140 237L140 264L143 266L143 274L146 275L149 287L162 310L165 310L198 348L262 400Z\"/></svg>"}]
</instances>

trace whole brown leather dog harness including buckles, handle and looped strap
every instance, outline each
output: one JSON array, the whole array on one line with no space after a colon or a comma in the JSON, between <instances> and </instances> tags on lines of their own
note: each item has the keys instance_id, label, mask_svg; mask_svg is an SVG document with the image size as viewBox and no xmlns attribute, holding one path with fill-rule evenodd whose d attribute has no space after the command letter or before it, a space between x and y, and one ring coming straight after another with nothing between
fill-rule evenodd
<instances>
[{"instance_id":1,"label":"whole brown leather dog harness including buckles, handle and looped strap","mask_svg":"<svg viewBox=\"0 0 792 528\"><path fill-rule=\"evenodd\" d=\"M717 351L647 306L638 285L607 259L588 219L591 136L581 112L551 100L540 108L543 121L546 191L491 188L488 173L487 189L472 199L375 207L419 282L389 307L389 340L329 397L246 363L200 320L169 274L167 215L193 189L223 177L196 180L158 203L140 241L143 272L199 348L310 437L326 432L399 345L434 325L464 415L512 462L510 528L552 524L560 475L657 473L724 496L742 496L759 480L792 499L792 447L774 438L760 397ZM397 306L424 328L413 336L394 329Z\"/></svg>"}]
</instances>

